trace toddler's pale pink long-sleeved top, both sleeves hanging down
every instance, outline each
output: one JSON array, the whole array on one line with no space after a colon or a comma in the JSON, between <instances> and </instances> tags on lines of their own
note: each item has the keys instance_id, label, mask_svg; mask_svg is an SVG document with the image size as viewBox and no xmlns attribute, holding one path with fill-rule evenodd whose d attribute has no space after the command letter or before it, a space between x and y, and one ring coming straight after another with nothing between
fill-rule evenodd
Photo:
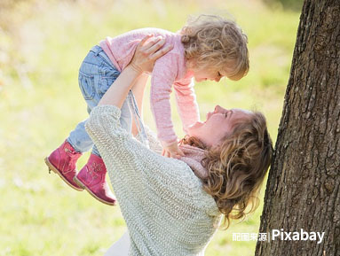
<instances>
[{"instance_id":1,"label":"toddler's pale pink long-sleeved top, both sleeves hanging down","mask_svg":"<svg viewBox=\"0 0 340 256\"><path fill-rule=\"evenodd\" d=\"M138 43L149 34L162 35L165 45L172 43L173 49L154 63L151 77L150 105L154 115L158 139L163 145L177 141L173 129L170 109L170 93L175 90L176 103L183 129L200 120L199 108L194 94L193 74L186 70L184 46L181 35L160 28L141 28L114 38L107 37L99 43L115 67L122 72L128 66Z\"/></svg>"}]
</instances>

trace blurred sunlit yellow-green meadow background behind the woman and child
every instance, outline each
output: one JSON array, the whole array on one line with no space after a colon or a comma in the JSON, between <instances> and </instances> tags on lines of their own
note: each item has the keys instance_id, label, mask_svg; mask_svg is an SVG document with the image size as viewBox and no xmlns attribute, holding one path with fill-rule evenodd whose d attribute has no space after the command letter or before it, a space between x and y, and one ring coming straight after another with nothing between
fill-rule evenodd
<instances>
[{"instance_id":1,"label":"blurred sunlit yellow-green meadow background behind the woman and child","mask_svg":"<svg viewBox=\"0 0 340 256\"><path fill-rule=\"evenodd\" d=\"M78 68L105 36L139 27L178 31L189 14L233 16L249 37L241 81L195 86L202 118L219 104L265 113L275 141L302 1L130 0L0 2L0 255L103 255L123 235L119 206L105 206L49 174L43 159L87 117ZM290 4L289 4L290 3ZM291 4L294 3L294 4ZM154 128L148 96L145 120ZM173 107L178 136L183 136ZM78 162L83 167L88 153ZM218 231L206 255L253 255L263 207Z\"/></svg>"}]
</instances>

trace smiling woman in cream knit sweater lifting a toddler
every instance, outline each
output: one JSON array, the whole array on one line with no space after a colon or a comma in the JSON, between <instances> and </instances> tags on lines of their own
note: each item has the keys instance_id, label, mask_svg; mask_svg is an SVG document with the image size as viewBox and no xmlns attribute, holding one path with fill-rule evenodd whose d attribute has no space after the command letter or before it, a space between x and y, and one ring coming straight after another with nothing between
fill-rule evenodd
<instances>
[{"instance_id":1,"label":"smiling woman in cream knit sweater lifting a toddler","mask_svg":"<svg viewBox=\"0 0 340 256\"><path fill-rule=\"evenodd\" d=\"M126 244L129 255L204 255L221 217L227 228L230 219L245 215L247 206L257 206L253 199L272 156L265 117L259 112L217 105L205 122L189 128L180 144L185 153L181 159L163 157L150 131L148 149L121 128L123 101L130 89L138 91L133 86L139 75L150 72L162 56L159 48L139 43L130 65L86 123L129 230L110 255L127 255ZM140 109L140 97L138 105Z\"/></svg>"}]
</instances>

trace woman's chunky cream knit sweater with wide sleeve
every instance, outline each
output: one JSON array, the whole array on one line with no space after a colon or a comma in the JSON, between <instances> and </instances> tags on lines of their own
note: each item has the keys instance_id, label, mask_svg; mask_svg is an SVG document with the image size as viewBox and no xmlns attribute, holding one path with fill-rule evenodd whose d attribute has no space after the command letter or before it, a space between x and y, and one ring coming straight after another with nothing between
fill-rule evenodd
<instances>
[{"instance_id":1,"label":"woman's chunky cream knit sweater with wide sleeve","mask_svg":"<svg viewBox=\"0 0 340 256\"><path fill-rule=\"evenodd\" d=\"M215 200L185 162L162 157L121 128L120 115L114 105L96 106L85 127L128 226L129 255L204 255L221 219Z\"/></svg>"}]
</instances>

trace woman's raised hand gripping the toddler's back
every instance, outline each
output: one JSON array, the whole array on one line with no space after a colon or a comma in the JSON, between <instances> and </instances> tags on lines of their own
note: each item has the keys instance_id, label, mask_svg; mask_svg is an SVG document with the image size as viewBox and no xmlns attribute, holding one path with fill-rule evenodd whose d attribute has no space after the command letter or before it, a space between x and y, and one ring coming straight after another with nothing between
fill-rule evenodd
<instances>
[{"instance_id":1,"label":"woman's raised hand gripping the toddler's back","mask_svg":"<svg viewBox=\"0 0 340 256\"><path fill-rule=\"evenodd\" d=\"M162 38L162 36L154 37L154 35L146 35L146 37L138 43L129 66L139 73L151 73L156 59L162 57L173 48L173 45L167 45L162 48L164 43L165 39Z\"/></svg>"}]
</instances>

